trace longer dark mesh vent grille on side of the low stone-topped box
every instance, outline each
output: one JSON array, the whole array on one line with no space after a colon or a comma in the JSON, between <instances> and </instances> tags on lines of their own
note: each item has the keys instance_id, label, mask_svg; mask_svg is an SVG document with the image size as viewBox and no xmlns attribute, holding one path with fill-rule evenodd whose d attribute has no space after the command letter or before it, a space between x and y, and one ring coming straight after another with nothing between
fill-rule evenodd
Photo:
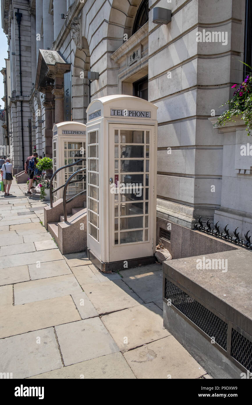
<instances>
[{"instance_id":1,"label":"longer dark mesh vent grille on side of the low stone-topped box","mask_svg":"<svg viewBox=\"0 0 252 405\"><path fill-rule=\"evenodd\" d=\"M167 279L165 279L165 298L170 299L174 307L179 309L209 337L214 337L216 343L227 350L226 322Z\"/></svg>"}]
</instances>

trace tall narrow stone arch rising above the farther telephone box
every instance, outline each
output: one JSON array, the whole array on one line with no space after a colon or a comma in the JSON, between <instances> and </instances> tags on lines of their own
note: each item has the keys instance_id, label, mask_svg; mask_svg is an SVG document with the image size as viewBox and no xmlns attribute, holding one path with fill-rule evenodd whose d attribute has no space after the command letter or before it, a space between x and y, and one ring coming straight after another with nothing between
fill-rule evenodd
<instances>
[{"instance_id":1,"label":"tall narrow stone arch rising above the farther telephone box","mask_svg":"<svg viewBox=\"0 0 252 405\"><path fill-rule=\"evenodd\" d=\"M89 45L85 37L78 38L78 40L73 39L78 48L76 46L72 68L72 120L86 124L86 109L89 105L89 81L87 79L90 70Z\"/></svg>"}]
</instances>

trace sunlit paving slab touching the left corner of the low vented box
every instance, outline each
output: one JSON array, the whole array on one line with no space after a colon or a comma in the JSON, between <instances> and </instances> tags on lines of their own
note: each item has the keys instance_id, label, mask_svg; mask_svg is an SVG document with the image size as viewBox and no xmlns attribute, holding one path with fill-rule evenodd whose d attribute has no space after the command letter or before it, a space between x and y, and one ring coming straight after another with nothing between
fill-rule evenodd
<instances>
[{"instance_id":1,"label":"sunlit paving slab touching the left corner of the low vented box","mask_svg":"<svg viewBox=\"0 0 252 405\"><path fill-rule=\"evenodd\" d=\"M121 352L170 335L163 327L163 313L154 303L110 313L101 319Z\"/></svg>"}]
</instances>

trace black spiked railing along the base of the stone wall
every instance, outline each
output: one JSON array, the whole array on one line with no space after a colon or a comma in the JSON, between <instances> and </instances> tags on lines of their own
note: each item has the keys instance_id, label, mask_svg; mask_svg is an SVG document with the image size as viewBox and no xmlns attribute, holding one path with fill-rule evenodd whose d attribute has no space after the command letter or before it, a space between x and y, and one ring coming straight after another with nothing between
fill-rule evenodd
<instances>
[{"instance_id":1,"label":"black spiked railing along the base of the stone wall","mask_svg":"<svg viewBox=\"0 0 252 405\"><path fill-rule=\"evenodd\" d=\"M246 247L247 249L252 250L252 241L250 241L252 235L248 236L250 230L244 235L245 239L241 239L239 237L240 232L237 232L237 230L239 229L238 227L235 228L235 230L233 231L233 235L231 235L229 234L229 228L227 228L229 224L224 226L224 232L222 232L218 223L219 221L217 221L216 224L213 224L213 222L210 222L210 218L208 218L204 226L202 217L199 217L198 224L195 224L194 228L201 232L205 232L209 235L215 236L216 238L224 239L227 242L235 243L235 245ZM214 225L214 228L212 228L211 225Z\"/></svg>"}]
</instances>

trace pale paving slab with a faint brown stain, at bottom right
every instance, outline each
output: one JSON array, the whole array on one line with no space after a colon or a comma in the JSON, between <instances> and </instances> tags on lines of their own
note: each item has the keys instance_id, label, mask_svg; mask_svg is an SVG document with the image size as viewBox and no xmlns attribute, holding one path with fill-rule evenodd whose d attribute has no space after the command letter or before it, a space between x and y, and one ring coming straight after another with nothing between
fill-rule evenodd
<instances>
[{"instance_id":1,"label":"pale paving slab with a faint brown stain, at bottom right","mask_svg":"<svg viewBox=\"0 0 252 405\"><path fill-rule=\"evenodd\" d=\"M124 357L140 379L193 379L206 373L173 336L130 350Z\"/></svg>"}]
</instances>

